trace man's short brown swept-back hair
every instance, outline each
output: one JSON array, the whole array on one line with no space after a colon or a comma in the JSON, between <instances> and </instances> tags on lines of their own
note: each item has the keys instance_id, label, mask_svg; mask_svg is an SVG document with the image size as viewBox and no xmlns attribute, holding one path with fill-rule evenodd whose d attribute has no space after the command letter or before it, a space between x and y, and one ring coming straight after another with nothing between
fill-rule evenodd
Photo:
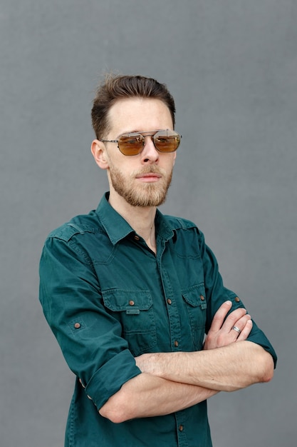
<instances>
[{"instance_id":1,"label":"man's short brown swept-back hair","mask_svg":"<svg viewBox=\"0 0 297 447\"><path fill-rule=\"evenodd\" d=\"M174 126L174 99L165 84L145 76L108 75L98 87L91 112L96 138L102 139L108 133L110 123L108 112L119 99L133 98L160 99L170 110Z\"/></svg>"}]
</instances>

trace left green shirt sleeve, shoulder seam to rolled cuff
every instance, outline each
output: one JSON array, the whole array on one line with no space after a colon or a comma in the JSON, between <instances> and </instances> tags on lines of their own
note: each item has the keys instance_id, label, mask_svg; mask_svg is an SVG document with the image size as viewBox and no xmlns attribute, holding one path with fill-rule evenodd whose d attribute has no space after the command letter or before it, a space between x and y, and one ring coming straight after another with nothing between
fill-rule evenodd
<instances>
[{"instance_id":1,"label":"left green shirt sleeve, shoulder seam to rolled cuff","mask_svg":"<svg viewBox=\"0 0 297 447\"><path fill-rule=\"evenodd\" d=\"M88 253L71 238L49 237L40 261L39 299L71 371L99 408L141 373L118 320L103 305Z\"/></svg>"}]
</instances>

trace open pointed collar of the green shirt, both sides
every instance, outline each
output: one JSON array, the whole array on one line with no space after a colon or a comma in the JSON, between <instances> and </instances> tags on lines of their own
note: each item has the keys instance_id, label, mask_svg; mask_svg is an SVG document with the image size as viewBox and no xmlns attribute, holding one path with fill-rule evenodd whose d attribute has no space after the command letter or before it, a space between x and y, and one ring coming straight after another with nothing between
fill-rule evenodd
<instances>
[{"instance_id":1,"label":"open pointed collar of the green shirt, both sides","mask_svg":"<svg viewBox=\"0 0 297 447\"><path fill-rule=\"evenodd\" d=\"M96 214L101 224L105 228L111 243L115 245L121 239L127 237L130 233L135 234L135 230L125 219L118 214L108 202L109 193L105 193L98 205ZM165 219L165 216L157 209L155 225L157 235L161 238L170 239L173 236L172 225Z\"/></svg>"}]
</instances>

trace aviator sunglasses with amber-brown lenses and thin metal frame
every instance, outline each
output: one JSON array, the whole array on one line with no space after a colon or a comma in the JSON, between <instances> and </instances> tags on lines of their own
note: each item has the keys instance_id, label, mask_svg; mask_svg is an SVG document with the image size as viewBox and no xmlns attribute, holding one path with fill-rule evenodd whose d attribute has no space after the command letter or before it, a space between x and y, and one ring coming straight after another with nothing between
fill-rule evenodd
<instances>
[{"instance_id":1,"label":"aviator sunglasses with amber-brown lenses and thin metal frame","mask_svg":"<svg viewBox=\"0 0 297 447\"><path fill-rule=\"evenodd\" d=\"M176 131L147 131L147 132L132 132L130 134L123 134L118 140L100 140L104 143L118 143L118 149L122 154L131 156L142 152L145 146L145 136L152 136L152 141L155 148L159 152L174 152L177 150L181 135Z\"/></svg>"}]
</instances>

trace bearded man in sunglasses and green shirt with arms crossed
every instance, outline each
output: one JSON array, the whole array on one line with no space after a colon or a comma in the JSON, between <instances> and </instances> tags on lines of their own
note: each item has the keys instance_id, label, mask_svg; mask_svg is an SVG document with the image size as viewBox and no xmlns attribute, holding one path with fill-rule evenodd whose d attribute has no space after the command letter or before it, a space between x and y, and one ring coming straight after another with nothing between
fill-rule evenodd
<instances>
[{"instance_id":1,"label":"bearded man in sunglasses and green shirt with arms crossed","mask_svg":"<svg viewBox=\"0 0 297 447\"><path fill-rule=\"evenodd\" d=\"M154 79L105 80L91 151L110 191L43 248L41 304L77 377L68 447L212 446L207 398L273 376L276 354L201 231L157 210L181 138L174 111Z\"/></svg>"}]
</instances>

